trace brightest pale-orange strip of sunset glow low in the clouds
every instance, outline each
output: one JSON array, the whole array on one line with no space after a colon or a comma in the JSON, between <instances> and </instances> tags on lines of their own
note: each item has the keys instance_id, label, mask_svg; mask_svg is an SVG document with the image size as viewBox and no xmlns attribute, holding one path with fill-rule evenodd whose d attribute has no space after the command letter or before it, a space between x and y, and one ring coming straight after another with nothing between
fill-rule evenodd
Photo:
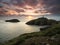
<instances>
[{"instance_id":1,"label":"brightest pale-orange strip of sunset glow low in the clouds","mask_svg":"<svg viewBox=\"0 0 60 45\"><path fill-rule=\"evenodd\" d=\"M9 10L9 12L7 12L6 14L10 14L10 15L44 15L44 14L50 14L50 13L45 13L45 12L39 12L39 13L35 13L35 10L25 10L25 12L16 12L13 10Z\"/></svg>"}]
</instances>

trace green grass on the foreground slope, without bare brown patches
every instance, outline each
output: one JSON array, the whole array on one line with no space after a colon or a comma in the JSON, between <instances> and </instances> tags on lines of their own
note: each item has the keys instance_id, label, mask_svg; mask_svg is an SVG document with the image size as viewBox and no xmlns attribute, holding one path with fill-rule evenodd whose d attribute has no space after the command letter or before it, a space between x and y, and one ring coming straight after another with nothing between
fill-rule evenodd
<instances>
[{"instance_id":1,"label":"green grass on the foreground slope, without bare brown patches","mask_svg":"<svg viewBox=\"0 0 60 45\"><path fill-rule=\"evenodd\" d=\"M60 45L60 43L59 43L59 41L60 41L60 23L52 25L50 28L48 28L44 31L22 34L19 37L9 40L4 45L24 45L24 44L29 43L30 40L32 40L32 41L33 41L33 39L37 40L36 38L42 39L40 37L56 38L56 39L54 39L55 41L53 41L54 43L50 44L50 45ZM29 40L29 41L27 43L25 43L27 40ZM45 38L43 40L45 41ZM37 40L36 42L38 43L39 41L40 40ZM47 42L49 42L49 41L50 40L48 40ZM52 43L52 42L50 42L50 43ZM35 44L35 43L32 43L32 44ZM29 45L32 45L32 44L29 44ZM37 44L35 44L35 45L37 45ZM38 45L40 45L40 43L38 43ZM41 45L43 45L43 44L41 44Z\"/></svg>"}]
</instances>

